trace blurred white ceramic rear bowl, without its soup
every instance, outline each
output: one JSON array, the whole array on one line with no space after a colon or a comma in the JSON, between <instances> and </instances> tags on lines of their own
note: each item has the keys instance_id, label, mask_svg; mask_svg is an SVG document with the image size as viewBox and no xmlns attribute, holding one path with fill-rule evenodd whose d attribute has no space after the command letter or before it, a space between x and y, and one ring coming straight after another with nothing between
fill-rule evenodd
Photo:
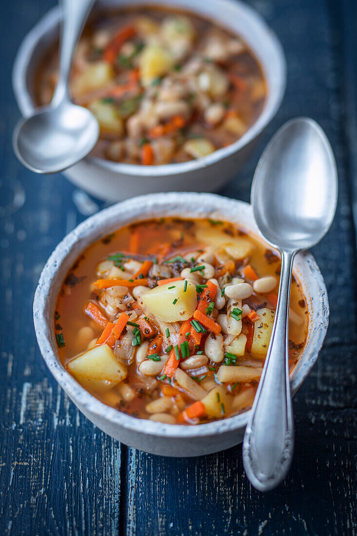
<instances>
[{"instance_id":1,"label":"blurred white ceramic rear bowl, without its soup","mask_svg":"<svg viewBox=\"0 0 357 536\"><path fill-rule=\"evenodd\" d=\"M98 6L133 4L167 5L165 0L98 0ZM247 159L253 142L277 113L285 91L286 65L276 35L263 19L239 0L170 0L170 5L201 13L241 35L262 65L268 94L261 115L237 142L207 157L162 166L138 166L86 157L64 172L70 181L92 195L110 201L160 191L215 191L236 174ZM27 34L16 56L12 84L21 113L29 116L34 67L50 43L58 37L60 14L49 11ZM99 188L100 186L100 188Z\"/></svg>"}]
</instances>

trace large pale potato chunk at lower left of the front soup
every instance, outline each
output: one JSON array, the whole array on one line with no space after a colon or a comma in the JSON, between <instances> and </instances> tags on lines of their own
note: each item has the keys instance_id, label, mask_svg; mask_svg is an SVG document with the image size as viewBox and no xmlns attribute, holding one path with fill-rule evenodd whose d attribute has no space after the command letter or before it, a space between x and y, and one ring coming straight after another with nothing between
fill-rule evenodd
<instances>
[{"instance_id":1,"label":"large pale potato chunk at lower left of the front soup","mask_svg":"<svg viewBox=\"0 0 357 536\"><path fill-rule=\"evenodd\" d=\"M106 344L95 346L78 355L68 363L67 368L84 386L93 381L111 382L111 385L114 385L127 376L127 369Z\"/></svg>"}]
</instances>

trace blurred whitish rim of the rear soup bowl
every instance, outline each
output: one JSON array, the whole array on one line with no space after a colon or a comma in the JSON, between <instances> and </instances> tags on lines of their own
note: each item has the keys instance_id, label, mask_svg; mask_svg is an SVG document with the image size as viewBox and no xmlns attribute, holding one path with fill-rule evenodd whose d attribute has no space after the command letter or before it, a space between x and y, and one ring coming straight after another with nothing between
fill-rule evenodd
<instances>
[{"instance_id":1,"label":"blurred whitish rim of the rear soup bowl","mask_svg":"<svg viewBox=\"0 0 357 536\"><path fill-rule=\"evenodd\" d=\"M127 2L128 0L124 0ZM171 0L172 5L175 5L175 0ZM152 4L150 0L140 0L137 5L140 4ZM161 5L161 4L160 4ZM197 160L190 160L188 162L169 163L155 166L143 166L139 164L128 164L122 162L112 162L99 157L93 157L88 155L84 160L88 163L94 163L100 168L110 170L111 172L140 177L162 177L165 175L178 175L181 173L187 173L194 170L202 169L207 166L211 166L214 163L228 158L234 153L240 151L243 147L247 146L253 139L255 139L270 123L272 118L276 115L281 101L284 97L286 88L286 59L284 50L277 35L266 24L265 20L250 6L241 2L241 0L219 0L217 2L217 17L219 19L219 13L225 6L229 6L230 9L235 9L237 14L240 13L246 20L252 21L259 26L259 31L265 36L266 46L270 47L271 53L274 55L273 61L276 64L278 73L277 80L274 87L268 88L267 97L257 120L250 126L244 135L236 142L217 149L213 153L206 157L198 158ZM192 12L198 12L195 9L191 9ZM18 104L18 107L23 116L29 116L33 113L34 106L32 98L29 95L26 75L28 70L29 59L32 57L33 51L38 46L40 36L46 34L53 28L61 17L61 10L58 6L49 10L38 21L37 24L27 33L23 41L21 42L16 54L16 58L13 64L12 70L12 87L14 95ZM266 70L267 62L263 63L262 58L258 58L261 63L263 72Z\"/></svg>"}]
</instances>

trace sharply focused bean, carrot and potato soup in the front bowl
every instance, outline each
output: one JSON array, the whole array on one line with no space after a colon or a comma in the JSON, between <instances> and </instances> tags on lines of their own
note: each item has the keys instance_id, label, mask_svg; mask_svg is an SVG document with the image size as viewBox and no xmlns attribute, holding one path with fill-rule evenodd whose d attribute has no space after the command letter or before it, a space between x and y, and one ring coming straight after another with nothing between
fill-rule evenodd
<instances>
[{"instance_id":1,"label":"sharply focused bean, carrot and potato soup in the front bowl","mask_svg":"<svg viewBox=\"0 0 357 536\"><path fill-rule=\"evenodd\" d=\"M106 404L196 425L251 407L269 345L280 259L232 224L165 218L124 227L79 257L54 329L69 371ZM308 312L293 277L289 364Z\"/></svg>"}]
</instances>

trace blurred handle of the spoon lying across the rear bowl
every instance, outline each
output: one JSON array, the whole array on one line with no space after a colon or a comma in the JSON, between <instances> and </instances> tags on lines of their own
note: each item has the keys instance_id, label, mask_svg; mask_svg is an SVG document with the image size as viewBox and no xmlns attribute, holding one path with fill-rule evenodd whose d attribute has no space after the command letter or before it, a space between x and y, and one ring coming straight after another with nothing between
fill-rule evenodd
<instances>
[{"instance_id":1,"label":"blurred handle of the spoon lying across the rear bowl","mask_svg":"<svg viewBox=\"0 0 357 536\"><path fill-rule=\"evenodd\" d=\"M59 46L58 80L52 102L57 105L68 98L68 80L72 57L94 0L61 0L63 21Z\"/></svg>"}]
</instances>

